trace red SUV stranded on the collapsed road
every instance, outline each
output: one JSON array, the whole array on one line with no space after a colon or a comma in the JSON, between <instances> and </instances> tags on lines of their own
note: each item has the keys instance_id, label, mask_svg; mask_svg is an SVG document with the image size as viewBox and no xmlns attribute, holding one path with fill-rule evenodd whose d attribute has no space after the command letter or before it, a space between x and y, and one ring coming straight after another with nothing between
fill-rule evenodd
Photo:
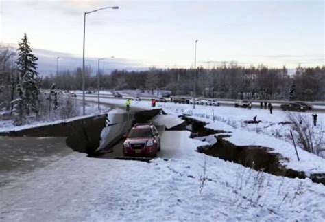
<instances>
[{"instance_id":1,"label":"red SUV stranded on the collapsed road","mask_svg":"<svg viewBox=\"0 0 325 222\"><path fill-rule=\"evenodd\" d=\"M152 124L136 124L123 143L125 156L156 157L160 151L160 136Z\"/></svg>"}]
</instances>

